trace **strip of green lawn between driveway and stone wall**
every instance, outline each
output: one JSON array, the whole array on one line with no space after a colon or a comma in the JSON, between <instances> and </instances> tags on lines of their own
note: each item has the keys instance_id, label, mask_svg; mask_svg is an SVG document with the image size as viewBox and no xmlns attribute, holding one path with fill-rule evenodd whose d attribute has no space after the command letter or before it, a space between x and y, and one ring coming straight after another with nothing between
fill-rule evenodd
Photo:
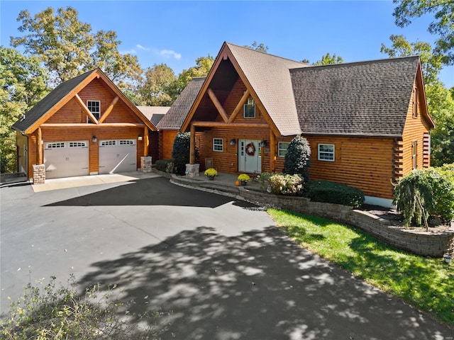
<instances>
[{"instance_id":1,"label":"strip of green lawn between driveway and stone wall","mask_svg":"<svg viewBox=\"0 0 454 340\"><path fill-rule=\"evenodd\" d=\"M400 251L360 229L321 217L267 211L304 248L454 326L454 264Z\"/></svg>"}]
</instances>

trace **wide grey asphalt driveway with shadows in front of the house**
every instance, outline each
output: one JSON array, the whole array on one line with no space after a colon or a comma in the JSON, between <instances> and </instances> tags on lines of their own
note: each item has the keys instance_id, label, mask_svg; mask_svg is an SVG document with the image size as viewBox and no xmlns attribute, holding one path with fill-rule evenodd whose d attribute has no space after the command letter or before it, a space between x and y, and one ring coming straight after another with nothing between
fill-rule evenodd
<instances>
[{"instance_id":1,"label":"wide grey asphalt driveway with shadows in front of the house","mask_svg":"<svg viewBox=\"0 0 454 340\"><path fill-rule=\"evenodd\" d=\"M74 273L117 283L136 312L172 311L162 339L454 339L240 200L161 177L0 193L2 312L29 281Z\"/></svg>"}]
</instances>

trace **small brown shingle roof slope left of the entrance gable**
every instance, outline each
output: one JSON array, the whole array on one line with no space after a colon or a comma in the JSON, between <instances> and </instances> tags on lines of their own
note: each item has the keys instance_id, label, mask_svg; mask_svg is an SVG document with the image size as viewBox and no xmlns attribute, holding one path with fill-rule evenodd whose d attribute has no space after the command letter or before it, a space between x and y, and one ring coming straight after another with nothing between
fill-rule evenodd
<instances>
[{"instance_id":1,"label":"small brown shingle roof slope left of the entrance gable","mask_svg":"<svg viewBox=\"0 0 454 340\"><path fill-rule=\"evenodd\" d=\"M204 84L205 77L196 77L184 88L175 103L170 107L169 111L157 124L157 130L179 130L182 127L192 104L196 100L197 94Z\"/></svg>"}]
</instances>

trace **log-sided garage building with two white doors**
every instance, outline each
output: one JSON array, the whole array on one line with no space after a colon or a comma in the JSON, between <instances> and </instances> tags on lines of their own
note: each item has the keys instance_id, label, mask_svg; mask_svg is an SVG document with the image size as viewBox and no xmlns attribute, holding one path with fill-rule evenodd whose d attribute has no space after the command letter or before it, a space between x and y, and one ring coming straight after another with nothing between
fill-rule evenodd
<instances>
[{"instance_id":1,"label":"log-sided garage building with two white doors","mask_svg":"<svg viewBox=\"0 0 454 340\"><path fill-rule=\"evenodd\" d=\"M13 129L30 180L43 168L46 179L136 171L151 134L157 143L155 125L100 69L57 86Z\"/></svg>"}]
</instances>

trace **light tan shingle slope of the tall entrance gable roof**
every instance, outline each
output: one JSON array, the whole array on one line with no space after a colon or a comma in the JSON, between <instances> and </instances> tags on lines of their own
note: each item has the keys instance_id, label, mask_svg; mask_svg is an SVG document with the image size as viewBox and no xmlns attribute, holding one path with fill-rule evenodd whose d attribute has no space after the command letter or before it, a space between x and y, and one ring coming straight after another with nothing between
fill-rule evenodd
<instances>
[{"instance_id":1,"label":"light tan shingle slope of the tall entrance gable roof","mask_svg":"<svg viewBox=\"0 0 454 340\"><path fill-rule=\"evenodd\" d=\"M226 45L281 135L299 134L289 69L307 65L228 42Z\"/></svg>"}]
</instances>

